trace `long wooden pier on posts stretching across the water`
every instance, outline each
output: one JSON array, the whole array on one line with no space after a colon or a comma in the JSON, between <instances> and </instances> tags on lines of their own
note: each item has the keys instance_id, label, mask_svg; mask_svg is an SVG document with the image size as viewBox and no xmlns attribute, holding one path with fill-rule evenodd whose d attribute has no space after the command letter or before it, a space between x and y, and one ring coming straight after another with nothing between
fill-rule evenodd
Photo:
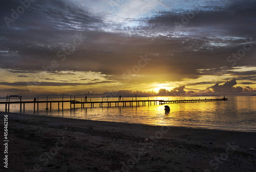
<instances>
[{"instance_id":1,"label":"long wooden pier on posts stretching across the water","mask_svg":"<svg viewBox=\"0 0 256 172\"><path fill-rule=\"evenodd\" d=\"M20 101L10 101L10 97L12 96L7 96L7 101L6 102L0 102L0 104L5 104L5 111L10 111L10 104L19 104L20 105L20 111L22 111L22 107L23 110L25 111L25 104L34 104L34 111L35 110L39 110L39 104L44 103L46 104L46 110L52 110L52 104L58 104L58 110L62 109L63 110L63 104L64 103L69 103L70 104L70 109L72 109L72 105L73 108L76 108L76 105L78 105L81 108L84 108L84 105L90 104L91 108L94 108L94 105L98 105L99 107L103 107L103 104L107 104L108 107L111 106L115 106L115 107L119 107L119 106L123 106L125 107L130 106L133 107L135 106L151 106L151 105L162 105L162 104L173 104L173 103L195 103L195 102L215 102L215 101L227 101L227 99L223 98L223 99L202 99L202 100L175 100L175 101L163 101L163 100L137 100L137 98L135 100L131 100L131 101L97 101L97 102L85 102L84 99L81 99L81 101L76 101L75 100L75 96L74 99L72 100L72 97L70 97L69 101L64 101L63 100L63 96L62 96L62 100L60 101L48 101L48 96L47 96L47 100L46 101L39 101L39 97L37 96L37 100L35 101L22 101L21 97L19 96ZM119 99L118 99L119 100ZM61 104L61 108L60 108L60 104ZM23 105L23 106L22 106ZM48 106L50 105L50 106Z\"/></svg>"}]
</instances>

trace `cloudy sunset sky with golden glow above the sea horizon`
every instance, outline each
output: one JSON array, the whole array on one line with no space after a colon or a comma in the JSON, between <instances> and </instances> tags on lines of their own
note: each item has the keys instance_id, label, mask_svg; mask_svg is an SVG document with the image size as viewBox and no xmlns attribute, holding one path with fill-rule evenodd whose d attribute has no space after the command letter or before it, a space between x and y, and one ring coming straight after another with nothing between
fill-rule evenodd
<instances>
[{"instance_id":1,"label":"cloudy sunset sky with golden glow above the sea horizon","mask_svg":"<svg viewBox=\"0 0 256 172\"><path fill-rule=\"evenodd\" d=\"M0 96L256 92L256 1L0 2Z\"/></svg>"}]
</instances>

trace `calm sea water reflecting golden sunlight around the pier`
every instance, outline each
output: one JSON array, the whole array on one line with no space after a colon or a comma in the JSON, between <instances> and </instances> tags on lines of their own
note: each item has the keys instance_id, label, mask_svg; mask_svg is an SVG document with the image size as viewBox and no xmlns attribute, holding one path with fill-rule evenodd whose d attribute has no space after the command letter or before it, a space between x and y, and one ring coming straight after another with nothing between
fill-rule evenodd
<instances>
[{"instance_id":1,"label":"calm sea water reflecting golden sunlight around the pier","mask_svg":"<svg viewBox=\"0 0 256 172\"><path fill-rule=\"evenodd\" d=\"M216 98L222 97L207 97L207 99ZM48 110L48 112L45 110L46 104L39 104L38 112L33 111L33 104L26 104L25 111L22 110L22 113L157 126L181 126L256 132L256 96L228 96L227 98L228 101L220 102L168 104L170 107L169 114L165 113L164 105L154 105L154 103L152 106L148 106L146 103L146 106L140 105L139 107L136 107L136 103L133 107L130 107L129 103L126 104L126 107L123 107L122 103L120 103L119 107L115 107L115 104L112 104L111 108L108 108L107 104L103 104L103 107L99 107L98 104L95 104L94 108L91 108L91 105L88 104L83 109L81 109L81 105L76 105L75 109L72 105L71 110L70 104L65 103L63 111L58 111L58 104L53 103L52 111ZM132 100L130 97L125 97L123 99L124 101ZM137 98L137 100L147 99L147 97ZM167 101L177 99L205 99L205 97L149 97L149 99ZM70 100L70 97L65 100ZM81 101L80 98L77 98L76 100ZM90 98L88 100L90 101ZM101 98L92 99L92 101L101 100ZM106 98L104 98L104 101L106 101ZM117 101L117 98L109 98L109 101ZM48 107L49 106L50 105L48 105ZM4 110L5 105L0 105L0 111ZM19 113L19 104L10 105L10 112Z\"/></svg>"}]
</instances>

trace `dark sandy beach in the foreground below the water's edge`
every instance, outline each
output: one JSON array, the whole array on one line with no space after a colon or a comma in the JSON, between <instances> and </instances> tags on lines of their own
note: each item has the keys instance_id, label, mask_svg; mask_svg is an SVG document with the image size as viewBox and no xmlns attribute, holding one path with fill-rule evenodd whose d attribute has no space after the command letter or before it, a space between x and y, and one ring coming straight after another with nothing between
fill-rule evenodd
<instances>
[{"instance_id":1,"label":"dark sandy beach in the foreground below the water's edge","mask_svg":"<svg viewBox=\"0 0 256 172\"><path fill-rule=\"evenodd\" d=\"M256 133L5 112L0 117L0 171L256 171Z\"/></svg>"}]
</instances>

